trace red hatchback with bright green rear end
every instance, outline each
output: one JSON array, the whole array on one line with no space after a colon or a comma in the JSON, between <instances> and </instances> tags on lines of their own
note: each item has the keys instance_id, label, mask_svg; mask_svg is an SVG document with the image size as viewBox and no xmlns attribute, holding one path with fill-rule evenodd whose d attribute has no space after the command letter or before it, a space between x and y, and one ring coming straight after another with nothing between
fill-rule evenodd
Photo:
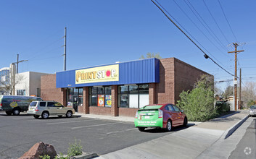
<instances>
[{"instance_id":1,"label":"red hatchback with bright green rear end","mask_svg":"<svg viewBox=\"0 0 256 159\"><path fill-rule=\"evenodd\" d=\"M186 126L188 119L186 114L177 106L166 103L147 105L136 112L135 127L143 132L147 127L164 128L170 132L173 126Z\"/></svg>"}]
</instances>

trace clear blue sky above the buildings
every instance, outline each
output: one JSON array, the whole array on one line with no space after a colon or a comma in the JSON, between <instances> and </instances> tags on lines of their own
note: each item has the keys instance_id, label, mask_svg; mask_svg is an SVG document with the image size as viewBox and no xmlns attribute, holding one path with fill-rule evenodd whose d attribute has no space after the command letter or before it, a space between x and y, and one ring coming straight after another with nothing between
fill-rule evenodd
<instances>
[{"instance_id":1,"label":"clear blue sky above the buildings","mask_svg":"<svg viewBox=\"0 0 256 159\"><path fill-rule=\"evenodd\" d=\"M234 51L234 47L227 46L234 42L246 43L238 48L244 50L238 55L238 68L242 68L244 82L255 82L256 1L219 1L237 41L218 0L205 0L205 3L226 38L215 25L203 0L189 2L221 43L197 20L185 1L176 0L176 3L190 19L175 1L158 0L202 45L199 46L232 74L234 54L227 52ZM216 81L233 79L210 59L205 59L203 53L150 0L1 0L0 20L0 68L17 61L19 53L20 60L28 60L19 64L19 72L62 71L62 37L67 27L67 69L130 61L150 52L160 53L162 58L176 57L213 74ZM220 87L226 85L222 83Z\"/></svg>"}]
</instances>

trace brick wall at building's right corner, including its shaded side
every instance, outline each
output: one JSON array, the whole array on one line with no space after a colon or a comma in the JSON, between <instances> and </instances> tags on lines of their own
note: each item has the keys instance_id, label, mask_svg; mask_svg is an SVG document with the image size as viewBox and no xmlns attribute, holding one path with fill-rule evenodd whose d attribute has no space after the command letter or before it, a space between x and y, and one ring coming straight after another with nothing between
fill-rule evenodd
<instances>
[{"instance_id":1,"label":"brick wall at building's right corner, including its shaded side","mask_svg":"<svg viewBox=\"0 0 256 159\"><path fill-rule=\"evenodd\" d=\"M207 73L176 58L160 59L160 82L155 85L155 103L176 104L180 93L191 90L202 74ZM149 86L152 95L154 85ZM153 100L149 103L152 104Z\"/></svg>"}]
</instances>

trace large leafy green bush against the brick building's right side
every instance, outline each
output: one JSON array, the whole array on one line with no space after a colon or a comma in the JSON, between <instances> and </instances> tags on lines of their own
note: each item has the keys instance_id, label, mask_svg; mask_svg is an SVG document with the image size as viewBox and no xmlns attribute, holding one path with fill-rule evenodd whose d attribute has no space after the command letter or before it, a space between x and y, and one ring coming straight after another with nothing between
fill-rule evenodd
<instances>
[{"instance_id":1,"label":"large leafy green bush against the brick building's right side","mask_svg":"<svg viewBox=\"0 0 256 159\"><path fill-rule=\"evenodd\" d=\"M202 75L193 90L183 91L178 106L186 112L190 121L207 121L217 113L214 108L213 79Z\"/></svg>"}]
</instances>

